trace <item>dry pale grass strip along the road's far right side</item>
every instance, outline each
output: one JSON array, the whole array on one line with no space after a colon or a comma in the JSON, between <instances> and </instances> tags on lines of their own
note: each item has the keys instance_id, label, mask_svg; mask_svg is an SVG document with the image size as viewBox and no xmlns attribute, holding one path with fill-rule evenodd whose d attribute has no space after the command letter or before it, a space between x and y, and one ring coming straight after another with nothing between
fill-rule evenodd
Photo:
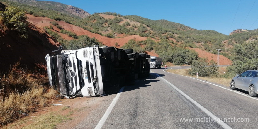
<instances>
[{"instance_id":1,"label":"dry pale grass strip along the road's far right side","mask_svg":"<svg viewBox=\"0 0 258 129\"><path fill-rule=\"evenodd\" d=\"M188 70L189 69L168 69L167 72L196 78L196 76L188 75ZM209 82L215 82L218 84L222 84L224 86L229 86L230 81L231 81L231 79L226 79L226 78L222 78L222 77L198 77L198 79L206 80Z\"/></svg>"}]
</instances>

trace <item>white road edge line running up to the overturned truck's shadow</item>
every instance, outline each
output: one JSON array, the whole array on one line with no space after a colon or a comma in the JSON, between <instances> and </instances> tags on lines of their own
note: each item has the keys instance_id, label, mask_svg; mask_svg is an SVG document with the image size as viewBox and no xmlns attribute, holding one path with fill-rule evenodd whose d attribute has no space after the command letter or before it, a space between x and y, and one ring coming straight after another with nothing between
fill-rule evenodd
<instances>
[{"instance_id":1,"label":"white road edge line running up to the overturned truck's shadow","mask_svg":"<svg viewBox=\"0 0 258 129\"><path fill-rule=\"evenodd\" d=\"M101 128L102 128L103 124L104 124L105 121L107 120L107 118L108 118L109 114L111 113L112 109L113 109L114 106L116 105L116 102L117 102L117 100L119 99L120 94L121 94L121 92L123 92L123 89L124 89L124 88L125 88L125 87L122 87L122 88L120 89L120 91L117 93L116 97L115 97L115 98L113 99L113 101L110 103L110 105L109 105L107 111L106 111L105 114L102 116L102 118L99 120L99 123L96 125L95 129L101 129Z\"/></svg>"}]
</instances>

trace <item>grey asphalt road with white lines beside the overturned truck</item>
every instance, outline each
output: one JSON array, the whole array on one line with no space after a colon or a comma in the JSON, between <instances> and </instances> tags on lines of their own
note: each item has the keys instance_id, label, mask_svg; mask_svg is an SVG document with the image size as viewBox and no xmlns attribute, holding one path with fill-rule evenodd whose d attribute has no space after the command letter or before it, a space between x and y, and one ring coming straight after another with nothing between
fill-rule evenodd
<instances>
[{"instance_id":1,"label":"grey asphalt road with white lines beside the overturned truck","mask_svg":"<svg viewBox=\"0 0 258 129\"><path fill-rule=\"evenodd\" d=\"M257 128L257 97L163 70L103 96L75 128Z\"/></svg>"}]
</instances>

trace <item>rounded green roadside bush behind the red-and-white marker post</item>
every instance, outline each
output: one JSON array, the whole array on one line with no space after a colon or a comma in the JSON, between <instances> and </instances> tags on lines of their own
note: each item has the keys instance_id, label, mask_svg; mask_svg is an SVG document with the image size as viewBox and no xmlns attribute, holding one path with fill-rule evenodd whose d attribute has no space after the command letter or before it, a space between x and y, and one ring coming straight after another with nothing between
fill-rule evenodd
<instances>
[{"instance_id":1,"label":"rounded green roadside bush behind the red-and-white marker post","mask_svg":"<svg viewBox=\"0 0 258 129\"><path fill-rule=\"evenodd\" d=\"M216 77L218 76L218 66L214 60L208 62L206 58L198 58L198 60L194 60L192 63L192 69L188 71L189 75L196 75L198 72L198 76L200 77Z\"/></svg>"}]
</instances>

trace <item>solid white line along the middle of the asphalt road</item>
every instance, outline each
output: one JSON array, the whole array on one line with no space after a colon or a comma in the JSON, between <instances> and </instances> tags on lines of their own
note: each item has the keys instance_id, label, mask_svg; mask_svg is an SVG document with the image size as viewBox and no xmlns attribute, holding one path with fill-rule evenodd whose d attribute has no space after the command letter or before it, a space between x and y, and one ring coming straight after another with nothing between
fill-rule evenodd
<instances>
[{"instance_id":1,"label":"solid white line along the middle of the asphalt road","mask_svg":"<svg viewBox=\"0 0 258 129\"><path fill-rule=\"evenodd\" d=\"M152 71L151 71L152 72ZM154 72L152 72L154 73ZM156 74L156 73L154 73ZM166 79L164 79L163 77L160 77L158 74L156 74L158 76L158 78L161 78L163 81L167 82L167 84L169 84L172 88L174 88L177 92L179 92L181 95L183 95L184 97L186 97L186 99L188 99L189 101L191 101L194 105L196 105L198 108L200 108L203 112L205 112L207 115L209 115L213 120L219 120L218 117L216 117L215 115L213 115L210 111L208 111L206 108L204 108L203 106L201 106L201 104L197 103L196 101L194 101L191 97L189 97L188 95L186 95L183 91L181 91L180 89L178 89L176 86L174 86L173 84L171 84L170 82L168 82ZM226 129L232 129L230 126L228 126L226 123L224 123L223 121L219 121L217 122L218 124L220 124L223 128Z\"/></svg>"}]
</instances>

